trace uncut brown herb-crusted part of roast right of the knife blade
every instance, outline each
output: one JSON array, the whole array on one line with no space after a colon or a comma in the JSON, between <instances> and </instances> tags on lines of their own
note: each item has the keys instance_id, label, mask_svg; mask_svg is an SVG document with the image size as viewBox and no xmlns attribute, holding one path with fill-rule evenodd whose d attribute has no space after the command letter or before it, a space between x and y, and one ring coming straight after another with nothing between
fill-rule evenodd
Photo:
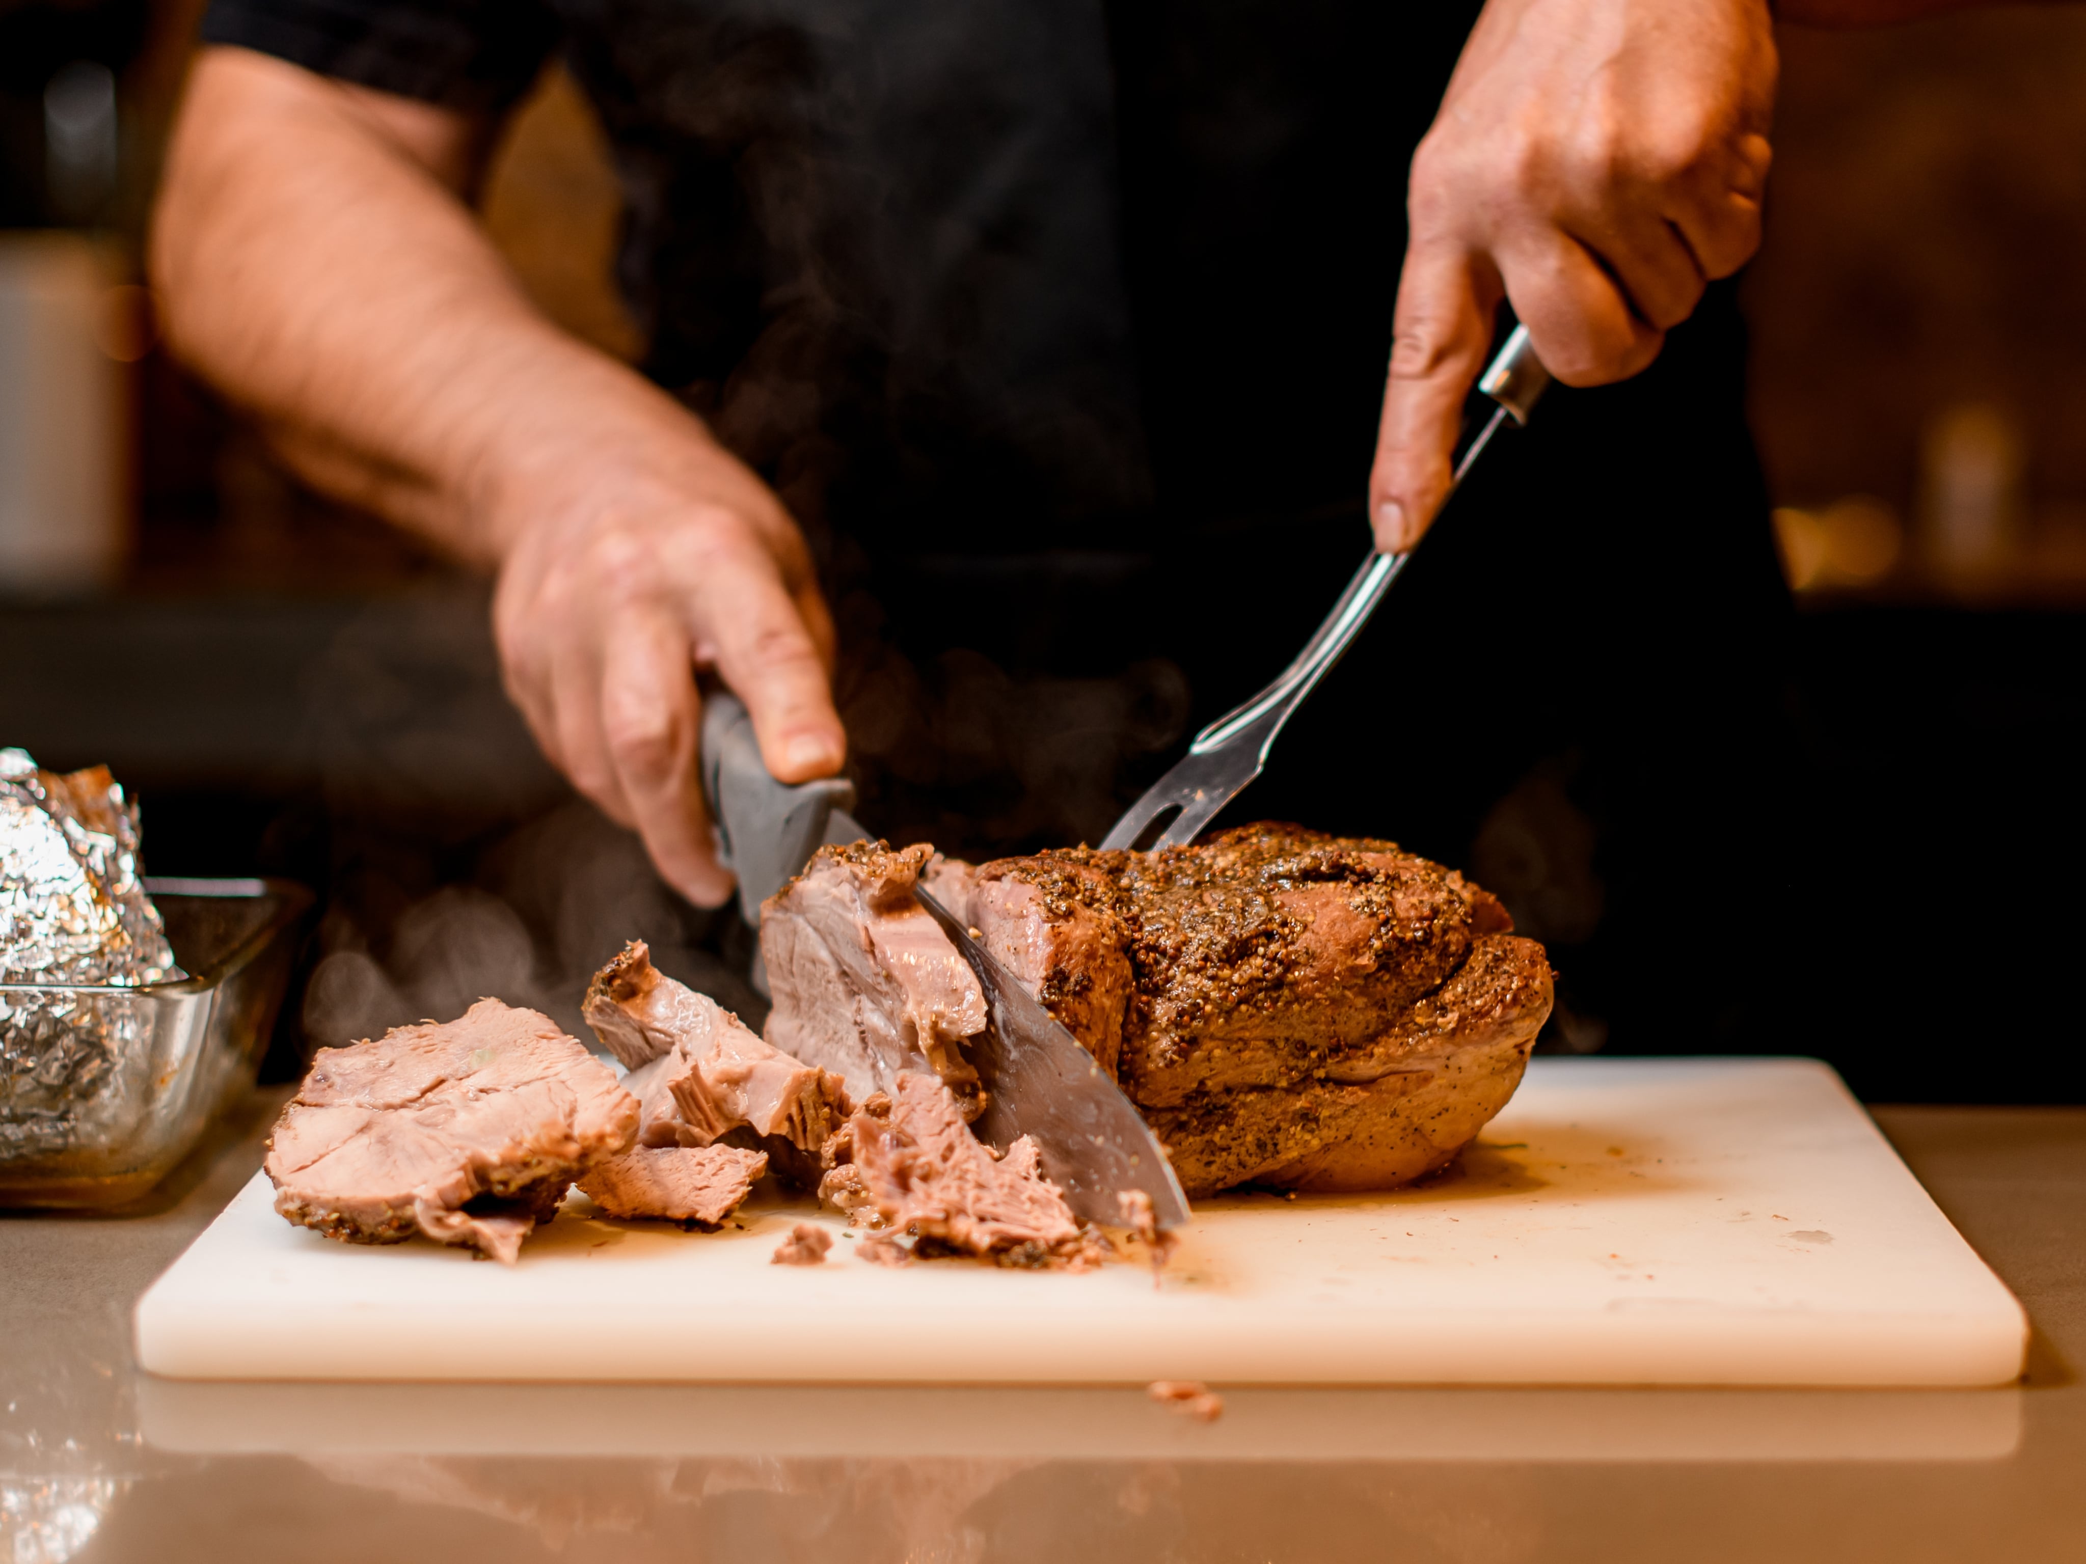
<instances>
[{"instance_id":1,"label":"uncut brown herb-crusted part of roast right of the knife blade","mask_svg":"<svg viewBox=\"0 0 2086 1564\"><path fill-rule=\"evenodd\" d=\"M970 915L1108 1057L1191 1197L1387 1189L1506 1105L1550 1013L1535 940L1396 842L1245 826L985 863Z\"/></svg>"}]
</instances>

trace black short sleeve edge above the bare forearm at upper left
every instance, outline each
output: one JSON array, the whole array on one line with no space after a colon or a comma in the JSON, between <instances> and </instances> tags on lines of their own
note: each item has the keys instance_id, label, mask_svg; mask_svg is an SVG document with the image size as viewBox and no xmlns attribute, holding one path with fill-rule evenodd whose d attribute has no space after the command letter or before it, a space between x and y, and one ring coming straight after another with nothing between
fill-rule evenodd
<instances>
[{"instance_id":1,"label":"black short sleeve edge above the bare forearm at upper left","mask_svg":"<svg viewBox=\"0 0 2086 1564\"><path fill-rule=\"evenodd\" d=\"M528 90L559 25L534 0L211 0L202 42L478 113Z\"/></svg>"}]
</instances>

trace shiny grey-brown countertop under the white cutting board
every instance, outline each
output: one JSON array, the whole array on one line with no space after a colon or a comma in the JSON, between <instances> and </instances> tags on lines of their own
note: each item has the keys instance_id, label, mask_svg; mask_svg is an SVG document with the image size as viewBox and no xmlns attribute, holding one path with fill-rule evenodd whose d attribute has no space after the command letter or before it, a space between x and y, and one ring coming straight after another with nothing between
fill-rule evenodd
<instances>
[{"instance_id":1,"label":"shiny grey-brown countertop under the white cutting board","mask_svg":"<svg viewBox=\"0 0 2086 1564\"><path fill-rule=\"evenodd\" d=\"M1206 1431L1129 1391L186 1395L131 1366L129 1310L252 1174L275 1101L257 1095L123 1214L0 1214L0 1558L1911 1564L2067 1558L2086 1535L2086 1107L1875 1109L2028 1305L2019 1389L1231 1391ZM511 1453L484 1453L486 1414ZM730 1418L768 1433L672 1453L676 1431ZM774 1433L836 1418L889 1426L891 1453L791 1453ZM937 1418L993 1437L951 1453L918 1437ZM1300 1426L1314 1451L1337 1447L1329 1428L1360 1447L1408 1418L1444 1428L1439 1456L1285 1447ZM1024 1453L1045 1422L1049 1453ZM1068 1458L1081 1426L1114 1453Z\"/></svg>"}]
</instances>

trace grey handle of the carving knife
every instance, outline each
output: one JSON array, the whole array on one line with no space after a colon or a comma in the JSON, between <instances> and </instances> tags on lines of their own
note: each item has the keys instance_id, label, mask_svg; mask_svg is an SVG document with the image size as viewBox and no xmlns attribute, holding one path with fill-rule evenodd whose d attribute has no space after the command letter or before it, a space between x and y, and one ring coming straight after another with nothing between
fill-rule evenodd
<instances>
[{"instance_id":1,"label":"grey handle of the carving knife","mask_svg":"<svg viewBox=\"0 0 2086 1564\"><path fill-rule=\"evenodd\" d=\"M703 799L718 832L718 857L738 876L738 911L761 926L761 903L811 861L834 809L855 803L845 776L776 782L761 761L753 717L728 690L703 694Z\"/></svg>"}]
</instances>

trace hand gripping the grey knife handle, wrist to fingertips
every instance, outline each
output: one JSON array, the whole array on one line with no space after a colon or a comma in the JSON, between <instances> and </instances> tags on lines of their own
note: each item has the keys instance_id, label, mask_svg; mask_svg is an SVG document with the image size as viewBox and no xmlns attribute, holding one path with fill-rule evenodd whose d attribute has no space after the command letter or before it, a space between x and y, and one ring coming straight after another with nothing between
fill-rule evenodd
<instances>
[{"instance_id":1,"label":"hand gripping the grey knife handle, wrist to fingertips","mask_svg":"<svg viewBox=\"0 0 2086 1564\"><path fill-rule=\"evenodd\" d=\"M847 749L828 692L832 619L803 538L724 453L674 480L592 473L530 509L492 605L507 690L659 874L718 905L732 878L703 807L695 669L747 703L782 782L830 776Z\"/></svg>"}]
</instances>

